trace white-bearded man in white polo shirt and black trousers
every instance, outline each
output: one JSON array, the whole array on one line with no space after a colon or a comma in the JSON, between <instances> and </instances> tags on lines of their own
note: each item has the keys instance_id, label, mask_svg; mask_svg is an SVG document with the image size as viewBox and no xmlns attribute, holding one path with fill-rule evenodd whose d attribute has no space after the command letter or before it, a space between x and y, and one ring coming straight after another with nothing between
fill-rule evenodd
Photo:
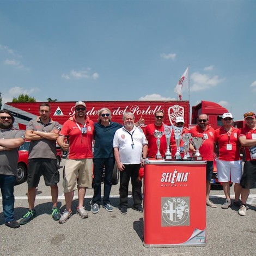
<instances>
[{"instance_id":1,"label":"white-bearded man in white polo shirt and black trousers","mask_svg":"<svg viewBox=\"0 0 256 256\"><path fill-rule=\"evenodd\" d=\"M138 180L139 168L147 157L148 142L141 129L134 125L131 112L124 113L124 126L115 132L113 140L114 156L120 170L120 210L127 214L128 187L132 182L133 210L143 212L142 182ZM142 159L143 153L143 159Z\"/></svg>"}]
</instances>

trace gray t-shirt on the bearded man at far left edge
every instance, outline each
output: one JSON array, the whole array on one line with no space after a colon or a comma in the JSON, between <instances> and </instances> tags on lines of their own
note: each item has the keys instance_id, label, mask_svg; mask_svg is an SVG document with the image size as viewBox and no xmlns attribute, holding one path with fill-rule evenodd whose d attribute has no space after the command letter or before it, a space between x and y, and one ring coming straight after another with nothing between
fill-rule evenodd
<instances>
[{"instance_id":1,"label":"gray t-shirt on the bearded man at far left edge","mask_svg":"<svg viewBox=\"0 0 256 256\"><path fill-rule=\"evenodd\" d=\"M16 130L13 128L2 130L0 129L0 139L25 139L24 131ZM17 147L12 150L0 151L0 174L4 175L17 175L17 162L19 159L19 150Z\"/></svg>"}]
</instances>

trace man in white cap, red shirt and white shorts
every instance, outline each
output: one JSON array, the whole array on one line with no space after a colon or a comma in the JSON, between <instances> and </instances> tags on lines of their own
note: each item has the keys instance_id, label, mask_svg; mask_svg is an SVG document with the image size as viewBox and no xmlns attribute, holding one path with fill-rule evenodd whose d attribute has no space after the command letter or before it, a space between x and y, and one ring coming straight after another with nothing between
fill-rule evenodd
<instances>
[{"instance_id":1,"label":"man in white cap, red shirt and white shorts","mask_svg":"<svg viewBox=\"0 0 256 256\"><path fill-rule=\"evenodd\" d=\"M240 156L240 143L237 138L239 129L232 126L233 115L224 113L222 115L223 126L215 131L215 153L218 181L222 182L223 191L226 197L222 209L231 206L229 181L234 182L235 200L234 205L241 206L239 200L241 193L240 180L242 177L242 160Z\"/></svg>"}]
</instances>

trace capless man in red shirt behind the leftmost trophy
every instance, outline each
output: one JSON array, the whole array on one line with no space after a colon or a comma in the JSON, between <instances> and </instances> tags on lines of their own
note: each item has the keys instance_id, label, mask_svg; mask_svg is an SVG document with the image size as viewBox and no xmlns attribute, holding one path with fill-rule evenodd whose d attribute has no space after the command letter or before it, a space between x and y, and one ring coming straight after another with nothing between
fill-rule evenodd
<instances>
[{"instance_id":1,"label":"capless man in red shirt behind the leftmost trophy","mask_svg":"<svg viewBox=\"0 0 256 256\"><path fill-rule=\"evenodd\" d=\"M157 111L155 113L155 123L148 124L145 127L144 134L146 138L148 139L148 157L149 158L155 158L157 153L157 145L156 140L157 138L154 136L155 130L163 132L164 133L164 127L163 127L163 118L164 113L162 110ZM162 157L164 157L164 154L166 153L167 143L166 143L166 136L163 134L163 136L160 138L160 154Z\"/></svg>"}]
</instances>

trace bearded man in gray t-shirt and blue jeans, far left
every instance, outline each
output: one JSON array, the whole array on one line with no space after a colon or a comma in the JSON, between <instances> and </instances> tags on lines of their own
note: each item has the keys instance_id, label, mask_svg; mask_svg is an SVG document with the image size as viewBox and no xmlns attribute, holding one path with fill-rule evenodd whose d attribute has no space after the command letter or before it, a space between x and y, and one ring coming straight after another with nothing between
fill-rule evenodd
<instances>
[{"instance_id":1,"label":"bearded man in gray t-shirt and blue jeans, far left","mask_svg":"<svg viewBox=\"0 0 256 256\"><path fill-rule=\"evenodd\" d=\"M14 185L17 175L19 147L23 144L24 132L13 128L14 117L6 110L0 111L0 187L3 198L5 225L19 228L14 220Z\"/></svg>"}]
</instances>

